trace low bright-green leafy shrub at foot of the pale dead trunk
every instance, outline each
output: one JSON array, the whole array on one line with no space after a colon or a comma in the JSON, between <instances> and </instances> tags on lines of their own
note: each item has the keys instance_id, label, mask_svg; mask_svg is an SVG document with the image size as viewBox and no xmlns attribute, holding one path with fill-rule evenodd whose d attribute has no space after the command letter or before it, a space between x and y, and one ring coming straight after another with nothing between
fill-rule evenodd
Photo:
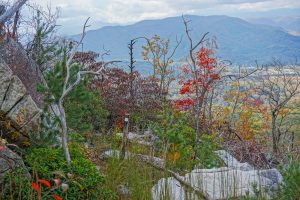
<instances>
[{"instance_id":1,"label":"low bright-green leafy shrub at foot of the pale dead trunk","mask_svg":"<svg viewBox=\"0 0 300 200\"><path fill-rule=\"evenodd\" d=\"M58 190L57 195L65 199L99 199L107 196L113 199L114 194L103 191L104 177L95 165L82 153L84 150L78 145L70 146L71 166L67 166L61 148L33 149L25 157L29 169L37 178L45 180L60 179L69 185L67 192ZM108 197L109 196L109 197Z\"/></svg>"}]
</instances>

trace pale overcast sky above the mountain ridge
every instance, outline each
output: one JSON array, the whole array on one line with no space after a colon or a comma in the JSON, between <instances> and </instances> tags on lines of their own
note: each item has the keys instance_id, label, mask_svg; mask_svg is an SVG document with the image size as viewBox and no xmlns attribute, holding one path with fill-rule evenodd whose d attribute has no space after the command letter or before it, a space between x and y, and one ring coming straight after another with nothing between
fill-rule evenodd
<instances>
[{"instance_id":1,"label":"pale overcast sky above the mountain ridge","mask_svg":"<svg viewBox=\"0 0 300 200\"><path fill-rule=\"evenodd\" d=\"M300 10L300 0L30 0L60 9L61 32L74 34L87 17L91 29L107 24L130 24L182 14L255 17L258 13L280 14ZM295 9L299 9L295 11ZM276 11L276 12L275 12ZM295 13L296 12L296 13ZM300 13L299 13L300 15Z\"/></svg>"}]
</instances>

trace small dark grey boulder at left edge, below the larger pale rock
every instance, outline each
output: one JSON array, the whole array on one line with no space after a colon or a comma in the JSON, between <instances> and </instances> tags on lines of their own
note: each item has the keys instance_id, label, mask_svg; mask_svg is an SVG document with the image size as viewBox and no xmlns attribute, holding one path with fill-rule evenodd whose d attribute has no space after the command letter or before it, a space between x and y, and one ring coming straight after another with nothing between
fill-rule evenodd
<instances>
[{"instance_id":1,"label":"small dark grey boulder at left edge, below the larger pale rock","mask_svg":"<svg viewBox=\"0 0 300 200\"><path fill-rule=\"evenodd\" d=\"M31 179L22 158L6 146L0 146L0 148L0 183L7 172L16 168L22 169L25 177Z\"/></svg>"}]
</instances>

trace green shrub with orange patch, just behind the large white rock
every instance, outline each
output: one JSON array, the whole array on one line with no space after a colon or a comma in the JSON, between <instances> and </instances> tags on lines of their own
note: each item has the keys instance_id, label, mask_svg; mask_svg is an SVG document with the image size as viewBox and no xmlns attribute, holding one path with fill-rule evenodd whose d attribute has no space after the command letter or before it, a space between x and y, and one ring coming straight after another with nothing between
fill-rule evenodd
<instances>
[{"instance_id":1,"label":"green shrub with orange patch, just behind the large white rock","mask_svg":"<svg viewBox=\"0 0 300 200\"><path fill-rule=\"evenodd\" d=\"M196 132L186 113L165 107L158 122L151 124L151 129L160 139L157 149L168 146L167 156L164 155L167 157L168 168L185 171L193 169L195 165L203 168L221 165L213 153L218 149L219 142L212 135L202 135L201 143L195 146Z\"/></svg>"}]
</instances>

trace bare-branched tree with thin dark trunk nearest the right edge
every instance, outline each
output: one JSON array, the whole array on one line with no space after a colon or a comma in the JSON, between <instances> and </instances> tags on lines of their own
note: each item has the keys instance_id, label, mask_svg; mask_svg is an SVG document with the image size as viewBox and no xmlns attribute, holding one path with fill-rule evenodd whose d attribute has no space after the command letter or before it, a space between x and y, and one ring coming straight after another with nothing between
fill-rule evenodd
<instances>
[{"instance_id":1,"label":"bare-branched tree with thin dark trunk nearest the right edge","mask_svg":"<svg viewBox=\"0 0 300 200\"><path fill-rule=\"evenodd\" d=\"M271 66L266 67L257 77L255 87L262 98L267 102L271 115L271 133L273 153L279 153L279 144L283 133L282 114L293 98L300 94L300 69L297 66L285 66L278 60L274 60ZM288 128L288 127L286 127Z\"/></svg>"}]
</instances>

